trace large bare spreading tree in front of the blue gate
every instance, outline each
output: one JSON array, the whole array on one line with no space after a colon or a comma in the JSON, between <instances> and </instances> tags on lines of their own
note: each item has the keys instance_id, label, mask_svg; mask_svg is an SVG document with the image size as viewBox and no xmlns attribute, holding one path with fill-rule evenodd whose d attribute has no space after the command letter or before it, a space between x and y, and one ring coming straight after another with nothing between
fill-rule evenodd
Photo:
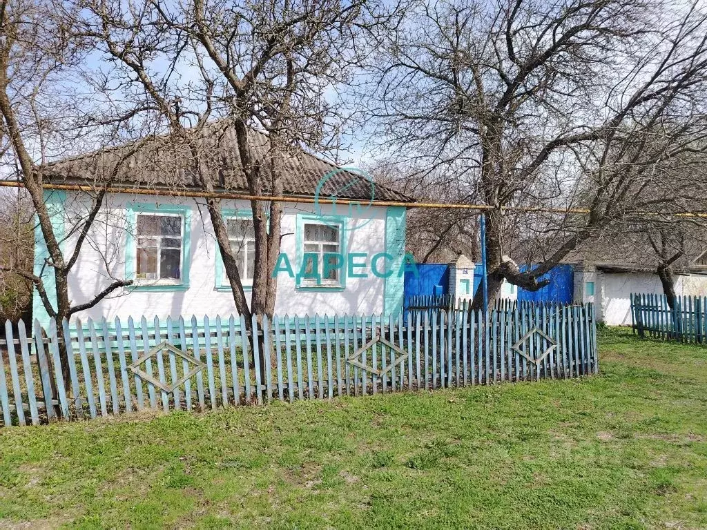
<instances>
[{"instance_id":1,"label":"large bare spreading tree in front of the blue gate","mask_svg":"<svg viewBox=\"0 0 707 530\"><path fill-rule=\"evenodd\" d=\"M503 278L537 290L583 242L703 195L706 29L698 4L419 1L380 41L369 115L388 153L443 168L492 207L490 297ZM588 213L544 218L561 240L521 272L505 257L508 206Z\"/></svg>"}]
</instances>

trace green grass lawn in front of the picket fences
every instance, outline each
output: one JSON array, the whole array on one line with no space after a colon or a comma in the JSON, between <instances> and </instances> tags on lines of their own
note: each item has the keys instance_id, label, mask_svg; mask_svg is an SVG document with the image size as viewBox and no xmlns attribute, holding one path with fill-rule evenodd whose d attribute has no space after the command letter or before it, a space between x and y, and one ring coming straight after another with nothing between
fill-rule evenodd
<instances>
[{"instance_id":1,"label":"green grass lawn in front of the picket fences","mask_svg":"<svg viewBox=\"0 0 707 530\"><path fill-rule=\"evenodd\" d=\"M0 430L0 529L707 528L707 348L601 374Z\"/></svg>"}]
</instances>

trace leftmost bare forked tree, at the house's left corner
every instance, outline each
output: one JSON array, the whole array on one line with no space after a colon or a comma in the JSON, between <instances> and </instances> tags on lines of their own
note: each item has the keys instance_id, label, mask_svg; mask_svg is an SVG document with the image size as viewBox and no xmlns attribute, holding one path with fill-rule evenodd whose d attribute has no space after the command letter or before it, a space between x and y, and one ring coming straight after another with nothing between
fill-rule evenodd
<instances>
[{"instance_id":1,"label":"leftmost bare forked tree, at the house's left corner","mask_svg":"<svg viewBox=\"0 0 707 530\"><path fill-rule=\"evenodd\" d=\"M57 319L63 335L64 318L95 306L107 296L122 293L132 281L107 276L110 281L81 301L69 298L69 276L123 160L108 166L95 163L87 175L86 192L78 194L75 208L56 204L45 185L53 171L52 160L87 151L98 143L110 146L130 139L125 117L114 107L87 93L81 76L86 61L86 42L69 32L52 2L7 0L0 2L0 131L4 151L0 161L5 179L18 179L29 200L41 234L34 245L46 249L39 273L24 266L4 268L28 281L49 317ZM98 102L100 101L100 105ZM136 131L139 136L147 129ZM95 184L95 185L92 185ZM57 196L57 194L54 194ZM52 218L62 218L58 230ZM66 349L60 344L64 380L69 383Z\"/></svg>"}]
</instances>

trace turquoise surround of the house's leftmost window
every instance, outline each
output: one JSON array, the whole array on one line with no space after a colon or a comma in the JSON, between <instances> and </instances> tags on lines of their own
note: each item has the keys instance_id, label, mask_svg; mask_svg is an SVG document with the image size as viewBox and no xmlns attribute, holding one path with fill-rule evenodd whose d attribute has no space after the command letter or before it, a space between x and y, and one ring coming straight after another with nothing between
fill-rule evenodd
<instances>
[{"instance_id":1,"label":"turquoise surround of the house's leftmost window","mask_svg":"<svg viewBox=\"0 0 707 530\"><path fill-rule=\"evenodd\" d=\"M157 283L154 285L130 285L129 290L141 291L185 291L189 289L189 269L191 268L191 228L192 208L181 204L128 203L128 233L125 245L125 278L134 280L136 269L137 241L135 230L139 213L178 213L182 216L182 283Z\"/></svg>"}]
</instances>

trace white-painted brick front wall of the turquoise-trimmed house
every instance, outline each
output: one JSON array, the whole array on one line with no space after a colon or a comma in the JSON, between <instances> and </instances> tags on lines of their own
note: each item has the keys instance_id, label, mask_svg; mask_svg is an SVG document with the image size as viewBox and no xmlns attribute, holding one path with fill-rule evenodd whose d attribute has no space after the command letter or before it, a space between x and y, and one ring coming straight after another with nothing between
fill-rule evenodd
<instances>
[{"instance_id":1,"label":"white-painted brick front wall of the turquoise-trimmed house","mask_svg":"<svg viewBox=\"0 0 707 530\"><path fill-rule=\"evenodd\" d=\"M76 223L76 216L82 211L78 195L71 192L66 194L62 211L66 218L64 225ZM128 233L127 207L129 204L177 205L185 206L191 212L191 222L188 227L190 248L189 255L189 288L186 290L141 290L140 288L121 288L115 291L98 305L80 312L74 317L86 319L93 317L107 317L121 319L141 317L146 315L148 320L157 315L163 317L191 316L204 314L214 317L216 314L230 316L235 314L233 295L230 290L218 289L215 285L216 256L218 247L214 239L211 220L206 210L204 201L194 198L171 198L165 196L146 196L131 194L112 194L107 197L106 206L90 232L90 237L83 245L81 254L76 262L69 281L69 297L72 303L87 302L109 285L112 278L125 277L126 248L132 243L132 236ZM237 211L250 211L250 204L246 201L223 201L223 208ZM342 213L339 206L339 215ZM85 206L83 207L85 212ZM296 220L298 214L315 214L315 205L312 204L284 204L282 218L282 244L281 252L287 254L288 259L297 273L296 264ZM331 214L332 206L322 205L322 214ZM366 258L357 259L365 262L366 269L357 269L356 272L366 272L366 278L346 278L343 290L308 290L296 286L296 280L286 273L278 276L278 293L276 299L276 314L304 315L318 314L380 314L384 312L384 293L386 278L379 278L371 273L370 260L374 254L385 252L390 248L390 241L386 240L387 208L372 206L366 209L366 219L347 221L346 242L344 254L357 252L366 254ZM404 220L404 218L403 218ZM363 221L366 221L365 223ZM390 222L390 219L389 219ZM352 229L356 226L355 229ZM404 237L404 223L402 224L402 237ZM391 230L388 228L388 238ZM398 228L397 237L400 235ZM64 247L74 247L76 235L68 238ZM68 252L64 251L64 254ZM402 278L397 281L397 265L394 264L394 276L390 280L394 288L399 289L402 303ZM47 274L48 271L45 271ZM224 275L225 278L225 275ZM399 285L397 285L399 283ZM250 293L246 293L249 295ZM388 294L390 295L390 285ZM35 294L35 316L40 317L41 303Z\"/></svg>"}]
</instances>

